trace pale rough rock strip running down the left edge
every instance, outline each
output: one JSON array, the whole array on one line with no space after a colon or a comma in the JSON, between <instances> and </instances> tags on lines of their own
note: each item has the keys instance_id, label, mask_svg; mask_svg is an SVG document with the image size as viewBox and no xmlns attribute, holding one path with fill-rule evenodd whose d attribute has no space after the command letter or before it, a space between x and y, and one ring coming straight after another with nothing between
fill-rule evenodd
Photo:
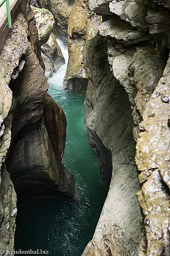
<instances>
[{"instance_id":1,"label":"pale rough rock strip running down the left edge","mask_svg":"<svg viewBox=\"0 0 170 256\"><path fill-rule=\"evenodd\" d=\"M12 120L6 120L12 105L12 91L8 87L14 69L19 66L20 57L28 47L27 39L28 25L22 14L13 24L10 40L7 40L0 55L1 73L1 182L0 182L0 233L1 249L12 250L14 247L15 217L16 217L16 193L5 166L5 159L11 142ZM13 54L11 54L13 53ZM4 253L6 255L6 253Z\"/></svg>"}]
</instances>

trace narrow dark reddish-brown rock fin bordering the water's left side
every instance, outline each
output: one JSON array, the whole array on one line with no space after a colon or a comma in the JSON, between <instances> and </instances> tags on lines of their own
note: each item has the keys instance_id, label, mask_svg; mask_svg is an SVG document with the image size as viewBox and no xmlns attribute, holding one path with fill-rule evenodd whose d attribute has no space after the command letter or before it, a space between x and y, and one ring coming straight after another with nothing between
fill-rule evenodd
<instances>
[{"instance_id":1,"label":"narrow dark reddish-brown rock fin bordering the water's left side","mask_svg":"<svg viewBox=\"0 0 170 256\"><path fill-rule=\"evenodd\" d=\"M59 176L58 191L74 196L74 177L62 165L66 142L66 116L61 106L59 106L48 93L46 93L44 99L43 117L50 143L52 144L57 159L57 171L55 171Z\"/></svg>"}]
</instances>

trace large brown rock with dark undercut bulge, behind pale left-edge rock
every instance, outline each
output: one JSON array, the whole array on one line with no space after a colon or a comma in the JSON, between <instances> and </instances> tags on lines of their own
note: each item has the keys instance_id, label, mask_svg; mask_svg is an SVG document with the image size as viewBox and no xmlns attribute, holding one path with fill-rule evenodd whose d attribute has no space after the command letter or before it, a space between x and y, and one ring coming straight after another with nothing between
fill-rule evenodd
<instances>
[{"instance_id":1,"label":"large brown rock with dark undercut bulge, behind pale left-edge rock","mask_svg":"<svg viewBox=\"0 0 170 256\"><path fill-rule=\"evenodd\" d=\"M57 195L58 191L71 195L72 188L62 167L62 156L57 153L59 149L51 142L52 138L49 137L46 128L49 127L48 120L45 119L49 110L53 116L58 113L51 126L54 129L57 123L63 122L63 133L66 133L66 119L62 118L62 121L58 121L62 117L63 110L60 108L60 111L57 111L58 105L55 107L56 103L52 104L49 101L49 108L44 111L48 89L44 71L31 48L28 48L23 60L25 64L22 72L10 85L14 96L12 144L6 160L7 170L18 193L18 201L36 195ZM60 134L58 137L64 150L65 141L60 138ZM37 149L36 152L34 148ZM30 187L33 195L28 193Z\"/></svg>"}]
</instances>

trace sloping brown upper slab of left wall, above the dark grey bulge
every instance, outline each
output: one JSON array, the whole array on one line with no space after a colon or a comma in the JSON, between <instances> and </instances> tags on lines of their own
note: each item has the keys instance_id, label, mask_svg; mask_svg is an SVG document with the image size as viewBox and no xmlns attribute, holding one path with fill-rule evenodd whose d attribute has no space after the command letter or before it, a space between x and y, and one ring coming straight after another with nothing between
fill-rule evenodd
<instances>
[{"instance_id":1,"label":"sloping brown upper slab of left wall, above the dark grey bulge","mask_svg":"<svg viewBox=\"0 0 170 256\"><path fill-rule=\"evenodd\" d=\"M14 96L12 138L15 138L24 126L39 121L42 115L44 96L48 89L44 71L31 48L28 48L27 55L23 60L25 64L22 72L10 84Z\"/></svg>"}]
</instances>

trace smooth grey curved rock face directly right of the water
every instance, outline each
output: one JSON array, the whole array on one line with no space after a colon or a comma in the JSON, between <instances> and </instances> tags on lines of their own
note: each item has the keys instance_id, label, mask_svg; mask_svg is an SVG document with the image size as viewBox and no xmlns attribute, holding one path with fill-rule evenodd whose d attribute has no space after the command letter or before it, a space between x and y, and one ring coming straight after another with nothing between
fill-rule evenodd
<instances>
[{"instance_id":1,"label":"smooth grey curved rock face directly right of the water","mask_svg":"<svg viewBox=\"0 0 170 256\"><path fill-rule=\"evenodd\" d=\"M141 234L135 167L133 119L128 94L107 60L107 40L95 36L86 46L89 74L85 122L91 147L100 156L101 174L111 182L92 241L83 255L136 255Z\"/></svg>"}]
</instances>

